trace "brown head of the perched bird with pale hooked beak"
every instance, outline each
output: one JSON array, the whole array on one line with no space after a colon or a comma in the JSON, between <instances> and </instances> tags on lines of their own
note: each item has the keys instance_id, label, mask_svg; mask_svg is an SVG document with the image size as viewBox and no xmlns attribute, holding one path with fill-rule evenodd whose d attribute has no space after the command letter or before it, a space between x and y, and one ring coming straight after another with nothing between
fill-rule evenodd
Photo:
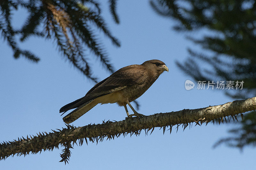
<instances>
[{"instance_id":1,"label":"brown head of the perched bird with pale hooked beak","mask_svg":"<svg viewBox=\"0 0 256 170\"><path fill-rule=\"evenodd\" d=\"M164 62L160 60L148 60L142 63L141 65L145 66L148 69L156 70L156 72L160 75L164 71L169 71L168 67Z\"/></svg>"}]
</instances>

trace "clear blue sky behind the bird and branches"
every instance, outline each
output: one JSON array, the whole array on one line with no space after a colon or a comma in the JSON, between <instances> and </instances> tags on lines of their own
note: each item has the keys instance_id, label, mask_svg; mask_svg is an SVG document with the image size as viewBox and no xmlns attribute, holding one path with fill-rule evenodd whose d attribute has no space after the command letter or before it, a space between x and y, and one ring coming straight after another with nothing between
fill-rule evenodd
<instances>
[{"instance_id":1,"label":"clear blue sky behind the bird and branches","mask_svg":"<svg viewBox=\"0 0 256 170\"><path fill-rule=\"evenodd\" d=\"M148 1L119 1L117 13L121 23L116 25L107 4L101 5L103 16L111 32L121 41L116 48L111 41L99 37L117 69L131 64L141 64L159 59L169 67L137 101L138 111L144 115L179 111L219 105L233 99L221 90L185 90L186 76L175 61L185 61L187 48L200 49L185 39L184 34L171 29L175 21L158 16ZM19 10L13 25L20 26L26 11ZM196 35L196 34L195 34ZM198 33L196 36L202 36ZM6 42L0 42L0 141L36 135L39 131L51 131L65 127L59 109L63 105L83 97L94 85L78 70L63 59L52 40L30 37L20 43L40 56L39 63L23 57L15 60ZM100 79L109 76L99 60L87 50L93 71ZM134 106L134 103L132 103ZM123 120L124 107L116 104L97 105L74 122L75 126L101 123L103 120ZM254 169L255 150L246 147L243 152L221 145L212 145L234 124L196 126L182 129L170 135L156 128L150 136L119 137L88 146L74 146L70 162L65 166L60 160L60 150L42 152L26 157L14 156L0 161L0 169Z\"/></svg>"}]
</instances>

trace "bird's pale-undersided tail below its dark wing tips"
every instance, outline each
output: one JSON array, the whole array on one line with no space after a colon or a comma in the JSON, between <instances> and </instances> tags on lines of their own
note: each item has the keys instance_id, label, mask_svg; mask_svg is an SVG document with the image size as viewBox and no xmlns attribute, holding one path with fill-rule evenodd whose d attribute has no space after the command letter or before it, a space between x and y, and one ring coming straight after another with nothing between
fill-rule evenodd
<instances>
[{"instance_id":1,"label":"bird's pale-undersided tail below its dark wing tips","mask_svg":"<svg viewBox=\"0 0 256 170\"><path fill-rule=\"evenodd\" d=\"M65 123L72 123L82 115L84 115L86 112L92 109L92 107L96 106L98 103L94 100L90 100L86 102L84 105L77 107L75 110L70 112L68 115L63 117L63 121Z\"/></svg>"}]
</instances>

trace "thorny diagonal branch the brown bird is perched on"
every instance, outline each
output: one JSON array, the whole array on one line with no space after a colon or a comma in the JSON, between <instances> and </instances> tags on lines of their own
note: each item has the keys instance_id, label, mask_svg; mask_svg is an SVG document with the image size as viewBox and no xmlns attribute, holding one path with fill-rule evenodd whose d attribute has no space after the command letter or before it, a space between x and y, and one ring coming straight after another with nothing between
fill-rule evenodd
<instances>
[{"instance_id":1,"label":"thorny diagonal branch the brown bird is perched on","mask_svg":"<svg viewBox=\"0 0 256 170\"><path fill-rule=\"evenodd\" d=\"M114 139L115 137L120 137L121 134L126 136L130 134L140 135L142 130L148 134L148 131L152 129L153 132L155 127L163 128L165 131L166 127L169 127L170 133L172 132L172 127L177 125L178 128L182 125L183 130L185 128L192 126L195 122L196 125L201 126L202 123L219 123L227 122L233 118L237 120L237 115L241 114L243 119L244 112L252 111L256 109L256 97L246 99L246 100L235 100L233 102L228 102L223 105L209 106L199 109L183 109L177 112L169 113L159 113L149 116L144 116L140 118L129 118L119 122L107 121L102 124L89 124L83 127L74 127L71 125L66 125L67 128L62 128L58 131L52 130L52 133L42 132L33 137L22 137L18 140L13 140L9 142L3 142L0 144L0 160L6 159L9 156L27 155L30 152L33 154L53 150L54 148L59 149L60 146L65 148L62 150L61 161L65 164L68 162L70 157L70 148L72 145L77 144L81 146L85 140L88 144L88 140L91 142L102 142L105 137L107 140ZM228 117L230 116L230 117ZM227 117L227 118L226 118ZM150 134L151 134L150 133Z\"/></svg>"}]
</instances>

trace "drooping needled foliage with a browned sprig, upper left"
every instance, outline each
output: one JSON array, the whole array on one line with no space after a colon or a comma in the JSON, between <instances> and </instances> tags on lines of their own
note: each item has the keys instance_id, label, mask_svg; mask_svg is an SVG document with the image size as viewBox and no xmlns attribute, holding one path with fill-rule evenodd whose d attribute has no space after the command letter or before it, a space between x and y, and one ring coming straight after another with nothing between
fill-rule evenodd
<instances>
[{"instance_id":1,"label":"drooping needled foliage with a browned sprig, upper left","mask_svg":"<svg viewBox=\"0 0 256 170\"><path fill-rule=\"evenodd\" d=\"M115 14L113 3L110 5L112 13ZM14 30L11 25L12 13L19 7L26 8L29 15L23 26ZM118 21L116 17L115 20ZM15 38L17 34L20 35L20 41L31 35L52 38L69 62L97 82L97 78L92 76L90 63L85 56L85 47L99 57L107 70L113 72L114 69L102 44L93 33L93 27L103 31L114 45L120 46L120 42L110 33L101 17L99 4L93 0L0 0L0 32L12 48L15 58L22 55L31 61L39 61L35 54L19 48Z\"/></svg>"}]
</instances>

